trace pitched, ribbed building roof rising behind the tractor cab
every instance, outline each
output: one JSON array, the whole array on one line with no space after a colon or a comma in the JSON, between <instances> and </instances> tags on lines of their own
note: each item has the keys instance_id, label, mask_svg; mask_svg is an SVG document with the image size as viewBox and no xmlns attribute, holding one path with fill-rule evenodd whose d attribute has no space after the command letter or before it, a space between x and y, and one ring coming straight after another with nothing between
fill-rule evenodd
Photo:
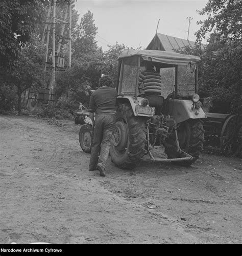
<instances>
[{"instance_id":1,"label":"pitched, ribbed building roof rising behind the tractor cab","mask_svg":"<svg viewBox=\"0 0 242 256\"><path fill-rule=\"evenodd\" d=\"M146 49L175 52L175 50L181 49L186 45L193 47L195 46L195 42L174 36L156 33ZM201 44L201 47L202 49L204 49L204 44Z\"/></svg>"}]
</instances>

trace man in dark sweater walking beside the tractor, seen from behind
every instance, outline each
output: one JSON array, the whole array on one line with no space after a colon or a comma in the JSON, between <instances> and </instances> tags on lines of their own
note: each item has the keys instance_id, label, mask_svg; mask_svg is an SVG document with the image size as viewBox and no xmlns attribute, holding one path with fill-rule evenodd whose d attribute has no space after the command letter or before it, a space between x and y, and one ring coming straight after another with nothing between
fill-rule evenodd
<instances>
[{"instance_id":1,"label":"man in dark sweater walking beside the tractor, seen from behind","mask_svg":"<svg viewBox=\"0 0 242 256\"><path fill-rule=\"evenodd\" d=\"M107 75L102 76L99 79L100 88L93 92L89 103L90 119L94 128L89 171L99 170L100 176L106 176L104 171L116 120L117 91L111 86L112 79Z\"/></svg>"}]
</instances>

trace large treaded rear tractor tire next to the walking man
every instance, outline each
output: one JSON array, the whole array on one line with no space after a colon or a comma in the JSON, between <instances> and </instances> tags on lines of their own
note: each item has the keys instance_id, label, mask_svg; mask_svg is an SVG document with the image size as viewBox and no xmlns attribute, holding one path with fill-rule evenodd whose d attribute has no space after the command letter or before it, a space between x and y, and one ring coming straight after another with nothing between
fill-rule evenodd
<instances>
[{"instance_id":1,"label":"large treaded rear tractor tire next to the walking man","mask_svg":"<svg viewBox=\"0 0 242 256\"><path fill-rule=\"evenodd\" d=\"M133 169L147 154L145 121L134 116L129 104L118 106L114 141L110 149L111 159L118 168Z\"/></svg>"}]
</instances>

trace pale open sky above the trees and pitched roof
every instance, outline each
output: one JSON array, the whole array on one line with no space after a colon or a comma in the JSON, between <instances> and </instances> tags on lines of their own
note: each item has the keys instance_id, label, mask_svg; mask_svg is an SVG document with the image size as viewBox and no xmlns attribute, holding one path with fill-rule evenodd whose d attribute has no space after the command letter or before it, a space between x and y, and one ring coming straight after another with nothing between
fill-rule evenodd
<instances>
[{"instance_id":1,"label":"pale open sky above the trees and pitched roof","mask_svg":"<svg viewBox=\"0 0 242 256\"><path fill-rule=\"evenodd\" d=\"M158 33L196 40L199 15L208 0L75 0L79 19L89 10L98 27L95 40L103 51L116 42L128 47L144 49ZM79 20L80 21L80 20ZM158 28L157 28L158 27ZM202 41L206 43L206 40Z\"/></svg>"}]
</instances>

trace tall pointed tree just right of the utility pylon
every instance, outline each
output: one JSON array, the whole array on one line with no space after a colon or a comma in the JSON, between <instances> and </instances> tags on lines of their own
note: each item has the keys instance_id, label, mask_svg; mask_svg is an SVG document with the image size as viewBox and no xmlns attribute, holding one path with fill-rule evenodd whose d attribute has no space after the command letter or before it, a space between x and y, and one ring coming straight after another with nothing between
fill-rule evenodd
<instances>
[{"instance_id":1,"label":"tall pointed tree just right of the utility pylon","mask_svg":"<svg viewBox=\"0 0 242 256\"><path fill-rule=\"evenodd\" d=\"M57 98L66 95L70 100L88 105L90 89L95 89L101 76L102 50L96 45L93 14L88 11L80 25L72 31L72 67L59 73L56 80Z\"/></svg>"}]
</instances>

